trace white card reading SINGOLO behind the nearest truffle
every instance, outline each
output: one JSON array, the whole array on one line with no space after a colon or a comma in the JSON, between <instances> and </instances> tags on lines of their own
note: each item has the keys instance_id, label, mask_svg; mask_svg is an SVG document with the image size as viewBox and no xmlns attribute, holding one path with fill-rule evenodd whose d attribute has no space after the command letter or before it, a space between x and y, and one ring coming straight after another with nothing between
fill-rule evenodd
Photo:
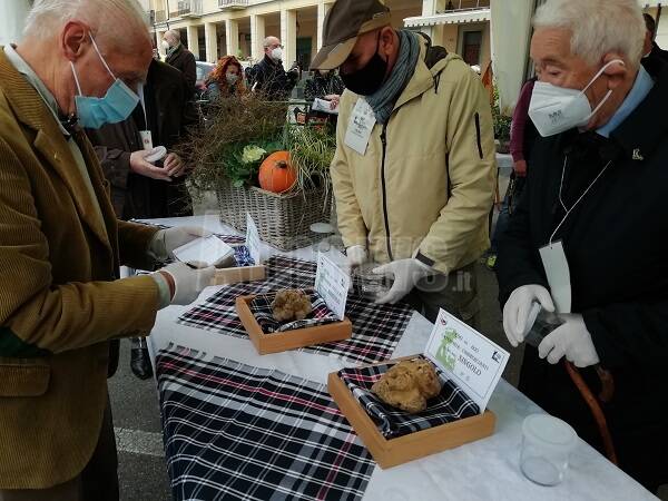
<instances>
[{"instance_id":1,"label":"white card reading SINGOLO behind the nearest truffle","mask_svg":"<svg viewBox=\"0 0 668 501\"><path fill-rule=\"evenodd\" d=\"M424 355L445 372L484 412L510 354L441 310Z\"/></svg>"}]
</instances>

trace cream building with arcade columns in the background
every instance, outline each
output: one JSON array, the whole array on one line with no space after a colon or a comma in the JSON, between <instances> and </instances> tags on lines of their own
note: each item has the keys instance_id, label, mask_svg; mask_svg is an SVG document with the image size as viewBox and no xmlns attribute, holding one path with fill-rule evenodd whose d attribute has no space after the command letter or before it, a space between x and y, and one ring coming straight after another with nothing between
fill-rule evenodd
<instances>
[{"instance_id":1,"label":"cream building with arcade columns in the background","mask_svg":"<svg viewBox=\"0 0 668 501\"><path fill-rule=\"evenodd\" d=\"M263 40L278 37L285 63L307 69L322 47L323 22L333 0L148 0L159 41L177 29L195 57L215 62L225 55L257 61ZM386 0L395 28L426 32L435 45L463 55L470 65L490 61L490 0ZM158 43L159 47L159 43ZM161 51L163 49L159 48Z\"/></svg>"}]
</instances>

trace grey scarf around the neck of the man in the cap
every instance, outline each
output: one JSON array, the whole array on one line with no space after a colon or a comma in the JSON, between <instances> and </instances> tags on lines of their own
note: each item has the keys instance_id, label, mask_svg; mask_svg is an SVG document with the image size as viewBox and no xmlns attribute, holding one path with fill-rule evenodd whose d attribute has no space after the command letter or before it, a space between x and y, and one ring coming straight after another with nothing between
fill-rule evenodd
<instances>
[{"instance_id":1,"label":"grey scarf around the neck of the man in the cap","mask_svg":"<svg viewBox=\"0 0 668 501\"><path fill-rule=\"evenodd\" d=\"M397 31L397 35L400 39L399 58L390 78L375 94L366 96L366 102L373 109L379 124L385 124L390 119L399 96L413 77L420 57L418 35L412 31Z\"/></svg>"}]
</instances>

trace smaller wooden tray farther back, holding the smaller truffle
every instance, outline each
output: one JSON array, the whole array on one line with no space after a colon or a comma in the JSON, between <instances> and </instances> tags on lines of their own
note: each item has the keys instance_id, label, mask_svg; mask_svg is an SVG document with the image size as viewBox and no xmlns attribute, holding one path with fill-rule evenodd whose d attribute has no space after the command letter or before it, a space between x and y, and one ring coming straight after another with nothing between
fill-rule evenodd
<instances>
[{"instance_id":1,"label":"smaller wooden tray farther back, holding the smaller truffle","mask_svg":"<svg viewBox=\"0 0 668 501\"><path fill-rule=\"evenodd\" d=\"M353 334L353 324L350 320L335 322L317 327L298 328L296 331L265 334L250 312L250 302L255 296L242 296L236 299L236 311L244 324L257 353L279 353L314 344L331 343L333 341L350 340Z\"/></svg>"}]
</instances>

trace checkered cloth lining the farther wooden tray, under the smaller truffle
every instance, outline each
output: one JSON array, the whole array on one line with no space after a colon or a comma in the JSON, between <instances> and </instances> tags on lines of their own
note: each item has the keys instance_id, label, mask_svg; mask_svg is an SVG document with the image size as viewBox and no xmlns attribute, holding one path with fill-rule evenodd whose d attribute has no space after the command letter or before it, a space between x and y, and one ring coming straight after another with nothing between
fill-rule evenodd
<instances>
[{"instance_id":1,"label":"checkered cloth lining the farther wooden tray, under the smaller truffle","mask_svg":"<svg viewBox=\"0 0 668 501\"><path fill-rule=\"evenodd\" d=\"M276 294L261 294L256 296L249 304L250 312L255 320L262 327L262 332L265 334L272 334L275 332L287 332L297 328L316 327L318 325L331 324L338 322L338 318L325 304L320 294L315 291L305 291L311 299L311 307L313 308L311 314L304 320L293 321L287 323L281 323L274 318L274 308L272 303L276 297Z\"/></svg>"}]
</instances>

